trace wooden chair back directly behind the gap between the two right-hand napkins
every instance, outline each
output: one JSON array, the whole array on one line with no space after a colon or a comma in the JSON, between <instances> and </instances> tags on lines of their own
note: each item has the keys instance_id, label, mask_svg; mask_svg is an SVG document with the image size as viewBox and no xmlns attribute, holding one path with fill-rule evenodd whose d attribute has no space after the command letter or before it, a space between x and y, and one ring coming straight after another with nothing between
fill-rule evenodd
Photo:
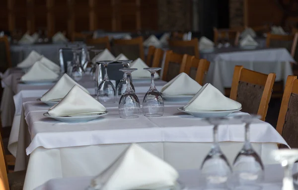
<instances>
[{"instance_id":1,"label":"wooden chair back directly behind the gap between the two right-hand napkins","mask_svg":"<svg viewBox=\"0 0 298 190\"><path fill-rule=\"evenodd\" d=\"M208 72L210 62L205 59L198 59L194 56L188 56L184 72L197 81L200 85L204 85L204 79ZM192 69L194 68L194 69ZM195 71L195 72L192 72Z\"/></svg>"}]
</instances>

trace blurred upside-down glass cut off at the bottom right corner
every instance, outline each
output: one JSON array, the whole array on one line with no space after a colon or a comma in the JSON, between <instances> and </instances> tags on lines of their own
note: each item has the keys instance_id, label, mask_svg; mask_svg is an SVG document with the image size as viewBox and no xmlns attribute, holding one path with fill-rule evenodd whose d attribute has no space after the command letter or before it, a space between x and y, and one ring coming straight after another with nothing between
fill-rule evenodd
<instances>
[{"instance_id":1,"label":"blurred upside-down glass cut off at the bottom right corner","mask_svg":"<svg viewBox=\"0 0 298 190\"><path fill-rule=\"evenodd\" d=\"M292 170L294 163L298 160L298 148L273 150L272 155L284 168L285 175L282 190L295 190Z\"/></svg>"}]
</instances>

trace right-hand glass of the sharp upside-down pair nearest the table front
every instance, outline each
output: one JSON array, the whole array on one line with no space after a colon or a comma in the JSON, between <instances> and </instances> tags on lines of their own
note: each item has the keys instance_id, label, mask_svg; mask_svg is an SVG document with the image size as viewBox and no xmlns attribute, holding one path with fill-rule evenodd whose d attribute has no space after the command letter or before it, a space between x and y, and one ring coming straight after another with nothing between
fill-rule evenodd
<instances>
[{"instance_id":1,"label":"right-hand glass of the sharp upside-down pair nearest the table front","mask_svg":"<svg viewBox=\"0 0 298 190\"><path fill-rule=\"evenodd\" d=\"M143 100L143 114L146 117L159 117L163 115L163 98L154 84L154 74L160 69L160 67L144 68L144 70L148 70L151 73L151 85Z\"/></svg>"}]
</instances>

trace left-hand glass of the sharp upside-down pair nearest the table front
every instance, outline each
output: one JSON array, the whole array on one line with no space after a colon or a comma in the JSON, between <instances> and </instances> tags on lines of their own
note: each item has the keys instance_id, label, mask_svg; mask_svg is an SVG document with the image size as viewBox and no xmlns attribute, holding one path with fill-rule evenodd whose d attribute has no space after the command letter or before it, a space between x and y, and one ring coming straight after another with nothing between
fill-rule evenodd
<instances>
[{"instance_id":1,"label":"left-hand glass of the sharp upside-down pair nearest the table front","mask_svg":"<svg viewBox=\"0 0 298 190\"><path fill-rule=\"evenodd\" d=\"M127 75L127 89L124 94L121 96L119 101L119 115L120 118L132 119L139 118L140 115L140 101L135 91L131 87L130 76L131 73L137 68L121 68L119 69Z\"/></svg>"}]
</instances>

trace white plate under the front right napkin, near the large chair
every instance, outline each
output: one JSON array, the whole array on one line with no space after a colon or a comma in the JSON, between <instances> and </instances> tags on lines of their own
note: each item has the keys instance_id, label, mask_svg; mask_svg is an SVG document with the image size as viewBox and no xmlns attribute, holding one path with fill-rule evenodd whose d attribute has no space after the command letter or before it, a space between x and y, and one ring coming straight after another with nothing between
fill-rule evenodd
<instances>
[{"instance_id":1,"label":"white plate under the front right napkin, near the large chair","mask_svg":"<svg viewBox=\"0 0 298 190\"><path fill-rule=\"evenodd\" d=\"M187 113L189 115L192 115L194 117L199 118L219 118L219 117L225 117L228 116L231 113L237 112L241 110L242 108L236 109L236 110L224 110L224 111L186 111L183 109L183 107L178 108L180 112Z\"/></svg>"}]
</instances>

